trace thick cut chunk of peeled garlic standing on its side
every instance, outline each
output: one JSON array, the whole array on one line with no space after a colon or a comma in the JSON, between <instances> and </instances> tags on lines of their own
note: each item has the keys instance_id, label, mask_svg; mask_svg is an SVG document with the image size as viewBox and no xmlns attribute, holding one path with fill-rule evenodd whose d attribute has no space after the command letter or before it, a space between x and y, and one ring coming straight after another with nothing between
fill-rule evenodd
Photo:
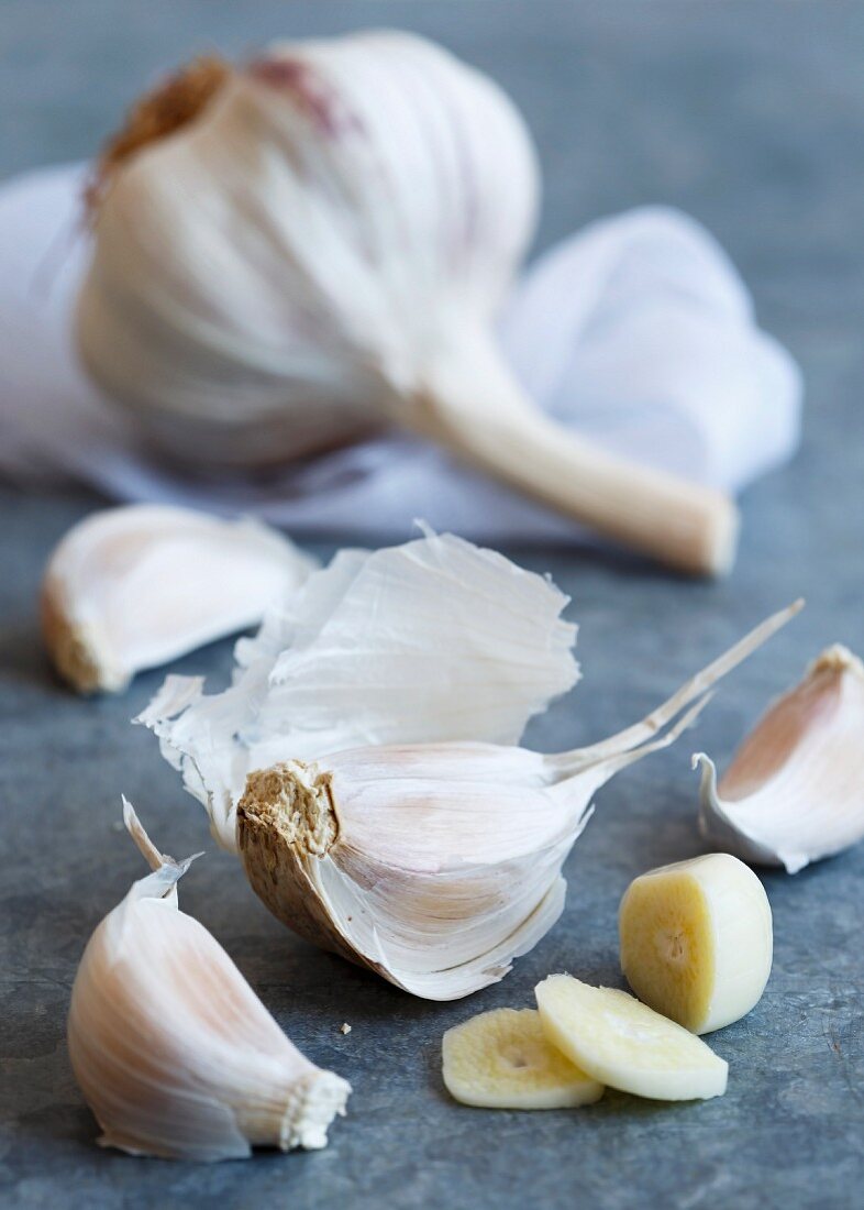
<instances>
[{"instance_id":1,"label":"thick cut chunk of peeled garlic standing on its side","mask_svg":"<svg viewBox=\"0 0 864 1210\"><path fill-rule=\"evenodd\" d=\"M636 995L694 1033L746 1016L771 974L771 905L729 853L649 870L619 911L621 970Z\"/></svg>"}]
</instances>

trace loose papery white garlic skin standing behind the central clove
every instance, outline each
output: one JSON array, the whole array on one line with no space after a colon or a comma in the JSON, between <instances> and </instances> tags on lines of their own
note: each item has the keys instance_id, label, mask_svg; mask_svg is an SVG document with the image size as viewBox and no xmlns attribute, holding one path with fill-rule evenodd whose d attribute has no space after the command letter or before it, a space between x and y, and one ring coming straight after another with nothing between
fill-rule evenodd
<instances>
[{"instance_id":1,"label":"loose papery white garlic skin standing behind the central clove","mask_svg":"<svg viewBox=\"0 0 864 1210\"><path fill-rule=\"evenodd\" d=\"M237 645L233 685L169 676L137 720L236 851L247 774L365 744L518 743L579 679L568 598L450 534L342 551Z\"/></svg>"}]
</instances>

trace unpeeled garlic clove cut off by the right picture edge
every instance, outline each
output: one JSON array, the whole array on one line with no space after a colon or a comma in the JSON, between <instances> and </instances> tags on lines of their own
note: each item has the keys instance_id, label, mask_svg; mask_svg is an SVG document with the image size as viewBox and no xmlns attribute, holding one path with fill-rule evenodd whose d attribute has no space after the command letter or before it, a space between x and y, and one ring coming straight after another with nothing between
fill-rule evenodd
<instances>
[{"instance_id":1,"label":"unpeeled garlic clove cut off by the right picture edge","mask_svg":"<svg viewBox=\"0 0 864 1210\"><path fill-rule=\"evenodd\" d=\"M702 766L700 830L755 865L796 874L864 837L864 666L823 651L756 724L717 784Z\"/></svg>"}]
</instances>

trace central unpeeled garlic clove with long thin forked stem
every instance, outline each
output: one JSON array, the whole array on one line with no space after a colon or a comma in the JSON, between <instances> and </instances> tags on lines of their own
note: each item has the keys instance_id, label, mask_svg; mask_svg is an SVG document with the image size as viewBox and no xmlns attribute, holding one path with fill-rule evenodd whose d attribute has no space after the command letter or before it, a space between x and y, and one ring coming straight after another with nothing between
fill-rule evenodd
<instances>
[{"instance_id":1,"label":"central unpeeled garlic clove with long thin forked stem","mask_svg":"<svg viewBox=\"0 0 864 1210\"><path fill-rule=\"evenodd\" d=\"M417 996L456 999L495 983L558 918L562 865L595 791L671 744L711 686L795 612L590 748L402 744L253 772L237 809L247 877L290 928Z\"/></svg>"}]
</instances>

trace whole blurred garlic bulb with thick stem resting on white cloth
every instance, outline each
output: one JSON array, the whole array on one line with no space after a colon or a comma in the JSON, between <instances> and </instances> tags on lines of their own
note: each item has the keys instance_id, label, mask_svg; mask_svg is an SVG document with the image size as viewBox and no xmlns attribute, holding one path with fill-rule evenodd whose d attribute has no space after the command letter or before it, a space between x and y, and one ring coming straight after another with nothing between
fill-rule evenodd
<instances>
[{"instance_id":1,"label":"whole blurred garlic bulb with thick stem resting on white cloth","mask_svg":"<svg viewBox=\"0 0 864 1210\"><path fill-rule=\"evenodd\" d=\"M671 566L730 565L726 496L556 425L505 368L535 152L452 54L373 33L199 64L102 167L80 353L173 455L285 461L395 424Z\"/></svg>"}]
</instances>

